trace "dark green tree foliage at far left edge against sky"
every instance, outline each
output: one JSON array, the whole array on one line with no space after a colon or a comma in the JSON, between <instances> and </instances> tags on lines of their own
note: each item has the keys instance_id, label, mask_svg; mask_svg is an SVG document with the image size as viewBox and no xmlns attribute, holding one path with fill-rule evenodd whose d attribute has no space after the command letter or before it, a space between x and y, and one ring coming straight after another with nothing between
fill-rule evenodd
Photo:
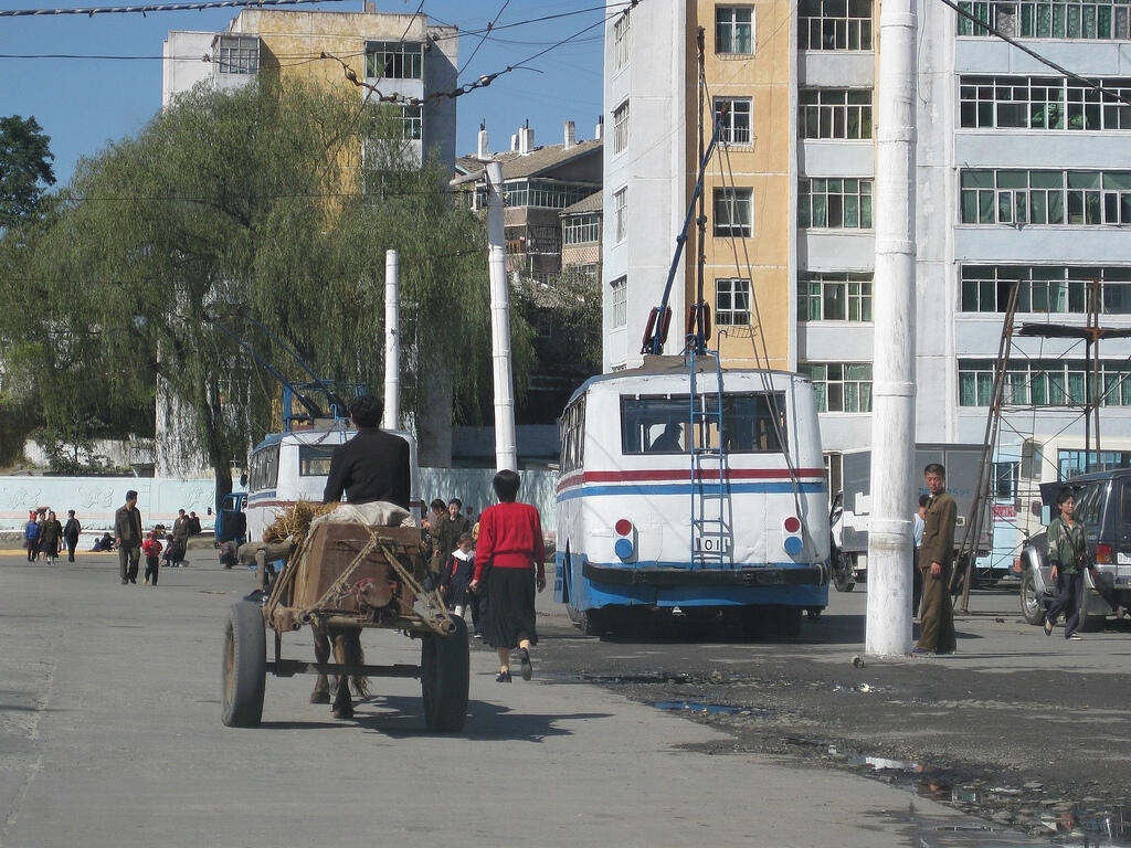
<instances>
[{"instance_id":1,"label":"dark green tree foliage at far left edge against sky","mask_svg":"<svg viewBox=\"0 0 1131 848\"><path fill-rule=\"evenodd\" d=\"M33 218L44 187L55 184L50 142L34 118L0 118L0 230Z\"/></svg>"}]
</instances>

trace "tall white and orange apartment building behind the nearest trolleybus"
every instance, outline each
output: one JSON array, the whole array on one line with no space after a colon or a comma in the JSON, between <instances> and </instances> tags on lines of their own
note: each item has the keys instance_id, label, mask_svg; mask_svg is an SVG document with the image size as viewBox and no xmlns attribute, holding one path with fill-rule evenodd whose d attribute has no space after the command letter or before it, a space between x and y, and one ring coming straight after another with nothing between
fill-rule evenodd
<instances>
[{"instance_id":1,"label":"tall white and orange apartment building behind the nearest trolleybus","mask_svg":"<svg viewBox=\"0 0 1131 848\"><path fill-rule=\"evenodd\" d=\"M641 361L694 183L700 114L725 111L706 179L705 295L731 366L810 374L824 450L871 444L879 5L610 3L604 367ZM1131 93L1125 0L972 0L975 17ZM1131 328L1131 106L918 3L917 440L981 442L1013 282L1017 321ZM702 79L697 36L702 31ZM657 61L656 57L663 57ZM700 107L700 97L702 107ZM620 128L620 130L619 130ZM673 288L677 352L694 236ZM761 341L759 341L759 339ZM1003 439L1082 435L1085 345L1018 338ZM1103 343L1104 432L1131 435L1131 344ZM1020 434L1020 435L1019 435Z\"/></svg>"}]
</instances>

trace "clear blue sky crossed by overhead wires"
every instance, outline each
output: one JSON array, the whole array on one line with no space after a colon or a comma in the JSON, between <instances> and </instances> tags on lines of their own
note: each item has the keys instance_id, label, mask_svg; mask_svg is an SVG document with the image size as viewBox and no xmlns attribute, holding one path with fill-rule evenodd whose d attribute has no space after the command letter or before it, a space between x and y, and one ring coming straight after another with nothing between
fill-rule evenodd
<instances>
[{"instance_id":1,"label":"clear blue sky crossed by overhead wires","mask_svg":"<svg viewBox=\"0 0 1131 848\"><path fill-rule=\"evenodd\" d=\"M170 0L102 0L129 6ZM176 0L172 0L175 2ZM188 1L188 0L184 0ZM3 0L8 9L94 7L100 0ZM418 0L378 0L377 10L411 14ZM460 32L481 31L499 12L503 0L425 0L424 14L435 23L455 24ZM464 69L460 83L502 70L603 18L601 0L511 0L497 26L579 11L538 24L503 28L492 34ZM284 7L361 11L362 0ZM580 11L586 10L589 11ZM130 15L54 15L0 18L0 53L97 54L153 57L140 60L3 59L0 58L0 115L34 115L51 137L59 184L70 180L81 156L97 153L115 139L136 135L161 109L161 53L170 29L219 31L239 9L148 12ZM492 149L510 144L510 135L526 120L536 144L560 142L562 123L577 122L578 138L593 138L601 114L603 28L596 26L575 42L558 47L530 67L490 87L459 98L458 154L473 153L480 121L485 119ZM464 35L463 66L480 42Z\"/></svg>"}]
</instances>

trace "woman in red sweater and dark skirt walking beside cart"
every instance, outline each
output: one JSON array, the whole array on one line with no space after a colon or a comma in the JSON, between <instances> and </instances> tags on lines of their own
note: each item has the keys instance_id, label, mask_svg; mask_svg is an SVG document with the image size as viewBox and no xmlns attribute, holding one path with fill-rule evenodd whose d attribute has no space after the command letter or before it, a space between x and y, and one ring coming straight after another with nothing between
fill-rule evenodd
<instances>
[{"instance_id":1,"label":"woman in red sweater and dark skirt walking beside cart","mask_svg":"<svg viewBox=\"0 0 1131 848\"><path fill-rule=\"evenodd\" d=\"M523 680L530 680L530 646L538 643L534 629L534 587L546 588L542 519L528 503L516 503L518 475L503 469L492 485L499 503L480 516L480 538L475 546L475 576L470 589L478 588L486 573L487 623L484 641L499 651L497 683L510 683L510 652L518 648Z\"/></svg>"}]
</instances>

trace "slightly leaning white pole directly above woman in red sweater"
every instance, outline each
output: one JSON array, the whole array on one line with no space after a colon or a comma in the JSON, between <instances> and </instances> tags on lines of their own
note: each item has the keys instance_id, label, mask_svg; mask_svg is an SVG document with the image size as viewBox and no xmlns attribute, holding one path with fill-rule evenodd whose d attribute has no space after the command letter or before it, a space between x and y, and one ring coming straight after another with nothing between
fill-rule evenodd
<instances>
[{"instance_id":1,"label":"slightly leaning white pole directly above woman in red sweater","mask_svg":"<svg viewBox=\"0 0 1131 848\"><path fill-rule=\"evenodd\" d=\"M495 398L495 470L518 470L515 378L510 363L510 289L502 226L502 166L487 164L487 265L491 271L491 373Z\"/></svg>"}]
</instances>

